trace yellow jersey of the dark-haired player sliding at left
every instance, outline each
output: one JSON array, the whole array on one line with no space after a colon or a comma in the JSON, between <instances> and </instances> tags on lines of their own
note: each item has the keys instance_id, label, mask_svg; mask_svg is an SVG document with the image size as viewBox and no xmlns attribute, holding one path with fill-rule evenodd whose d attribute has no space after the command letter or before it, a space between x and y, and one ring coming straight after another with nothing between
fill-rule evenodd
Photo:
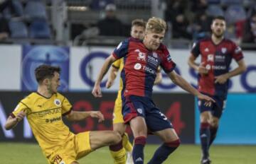
<instances>
[{"instance_id":1,"label":"yellow jersey of the dark-haired player sliding at left","mask_svg":"<svg viewBox=\"0 0 256 164\"><path fill-rule=\"evenodd\" d=\"M46 157L63 146L75 134L63 122L63 115L71 112L70 102L60 93L46 98L39 93L31 93L21 100L11 116L18 112L26 112L28 123L36 137L39 146Z\"/></svg>"}]
</instances>

